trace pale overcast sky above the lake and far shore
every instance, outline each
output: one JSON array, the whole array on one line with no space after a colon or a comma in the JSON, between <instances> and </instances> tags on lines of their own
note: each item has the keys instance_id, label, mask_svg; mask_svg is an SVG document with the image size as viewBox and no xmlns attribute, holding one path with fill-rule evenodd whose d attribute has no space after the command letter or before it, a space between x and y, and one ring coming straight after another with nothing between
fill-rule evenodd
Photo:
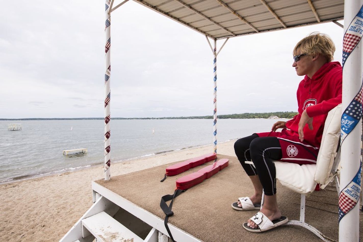
<instances>
[{"instance_id":1,"label":"pale overcast sky above the lake and far shore","mask_svg":"<svg viewBox=\"0 0 363 242\"><path fill-rule=\"evenodd\" d=\"M104 4L2 1L0 118L104 116ZM217 57L217 114L296 111L292 50L314 31L333 38L341 62L334 23L230 38ZM213 115L213 88L204 35L133 1L112 12L111 117Z\"/></svg>"}]
</instances>

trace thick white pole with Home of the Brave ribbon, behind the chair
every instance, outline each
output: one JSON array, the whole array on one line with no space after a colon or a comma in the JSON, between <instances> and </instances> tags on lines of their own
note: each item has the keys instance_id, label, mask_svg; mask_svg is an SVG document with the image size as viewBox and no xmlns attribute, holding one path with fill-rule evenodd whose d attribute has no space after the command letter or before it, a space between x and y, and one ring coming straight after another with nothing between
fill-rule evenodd
<instances>
[{"instance_id":1,"label":"thick white pole with Home of the Brave ribbon, behind the chair","mask_svg":"<svg viewBox=\"0 0 363 242\"><path fill-rule=\"evenodd\" d=\"M344 1L339 241L359 241L363 0ZM361 93L362 94L362 93ZM359 179L358 179L359 175Z\"/></svg>"}]
</instances>

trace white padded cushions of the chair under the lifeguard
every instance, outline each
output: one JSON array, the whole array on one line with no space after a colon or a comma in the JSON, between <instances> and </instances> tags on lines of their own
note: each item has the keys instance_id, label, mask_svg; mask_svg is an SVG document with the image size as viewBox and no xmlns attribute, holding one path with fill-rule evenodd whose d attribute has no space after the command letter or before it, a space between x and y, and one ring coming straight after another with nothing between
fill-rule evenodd
<instances>
[{"instance_id":1,"label":"white padded cushions of the chair under the lifeguard","mask_svg":"<svg viewBox=\"0 0 363 242\"><path fill-rule=\"evenodd\" d=\"M334 176L337 175L335 167L339 159L335 160L335 157L337 156L340 137L341 106L342 104L339 104L328 113L317 164L299 165L274 161L276 179L283 186L297 193L310 195L318 183L321 184L321 188L325 188Z\"/></svg>"}]
</instances>

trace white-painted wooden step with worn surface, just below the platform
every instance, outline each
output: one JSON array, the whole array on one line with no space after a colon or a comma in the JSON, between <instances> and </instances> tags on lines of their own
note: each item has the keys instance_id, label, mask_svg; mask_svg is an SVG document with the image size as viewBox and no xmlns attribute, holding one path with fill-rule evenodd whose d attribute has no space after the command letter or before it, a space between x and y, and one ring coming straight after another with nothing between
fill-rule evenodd
<instances>
[{"instance_id":1,"label":"white-painted wooden step with worn surface, just below the platform","mask_svg":"<svg viewBox=\"0 0 363 242\"><path fill-rule=\"evenodd\" d=\"M97 213L91 217L83 219L82 233L85 228L93 234L97 241L144 241L105 212ZM86 231L83 234L87 234Z\"/></svg>"}]
</instances>

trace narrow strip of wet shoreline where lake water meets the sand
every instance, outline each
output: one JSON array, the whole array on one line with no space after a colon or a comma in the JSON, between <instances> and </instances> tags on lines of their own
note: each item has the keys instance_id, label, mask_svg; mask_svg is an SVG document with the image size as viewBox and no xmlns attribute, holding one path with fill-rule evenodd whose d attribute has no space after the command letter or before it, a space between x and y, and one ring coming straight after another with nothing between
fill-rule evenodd
<instances>
[{"instance_id":1,"label":"narrow strip of wet shoreline where lake water meets the sand","mask_svg":"<svg viewBox=\"0 0 363 242\"><path fill-rule=\"evenodd\" d=\"M233 141L233 140L237 140L237 139L229 139L229 140L226 140L226 141L221 141L221 142L219 142L219 144L223 144L223 143ZM159 151L159 152L155 152L155 153L151 153L151 154L132 157L132 158L125 159L125 160L112 161L111 165L118 164L118 163L123 163L123 162L127 162L127 161L147 159L147 158L150 158L150 157L163 155L163 154L166 154L166 153L184 151L184 150L188 150L188 149L205 147L205 146L209 146L209 145L211 145L211 144L202 144L202 145L196 145L196 146L189 146L189 147L184 147L184 148L181 148L181 149L175 149L175 150L169 150L169 151ZM0 185L12 184L12 183L18 182L18 181L26 181L26 180L38 179L38 178L48 177L48 176L55 176L55 175L61 176L64 173L70 173L70 172L82 171L82 170L85 170L85 169L91 169L91 168L97 167L99 165L103 166L104 163L100 162L100 163L93 163L93 164L85 165L85 166L82 166L82 167L70 167L70 168L65 168L65 169L58 170L58 171L46 172L46 173L39 174L39 175L23 175L23 176L17 176L17 177L10 177L8 179L0 181Z\"/></svg>"}]
</instances>

